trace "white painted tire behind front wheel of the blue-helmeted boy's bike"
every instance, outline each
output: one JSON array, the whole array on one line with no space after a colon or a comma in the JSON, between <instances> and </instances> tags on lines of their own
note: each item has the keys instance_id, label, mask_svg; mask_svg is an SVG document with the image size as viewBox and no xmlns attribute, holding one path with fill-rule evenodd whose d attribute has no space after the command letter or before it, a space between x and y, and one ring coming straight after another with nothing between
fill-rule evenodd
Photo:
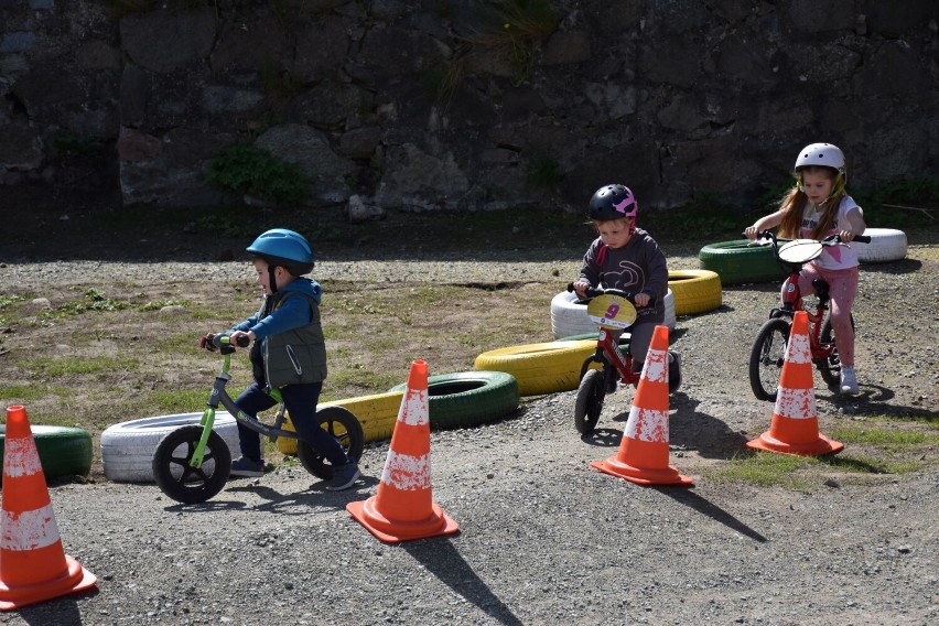
<instances>
[{"instance_id":1,"label":"white painted tire behind front wheel of the blue-helmeted boy's bike","mask_svg":"<svg viewBox=\"0 0 939 626\"><path fill-rule=\"evenodd\" d=\"M101 463L105 477L116 483L153 483L153 453L163 436L182 425L198 424L202 413L176 413L120 422L101 432ZM213 430L222 435L231 457L238 446L238 424L227 411L215 413Z\"/></svg>"}]
</instances>

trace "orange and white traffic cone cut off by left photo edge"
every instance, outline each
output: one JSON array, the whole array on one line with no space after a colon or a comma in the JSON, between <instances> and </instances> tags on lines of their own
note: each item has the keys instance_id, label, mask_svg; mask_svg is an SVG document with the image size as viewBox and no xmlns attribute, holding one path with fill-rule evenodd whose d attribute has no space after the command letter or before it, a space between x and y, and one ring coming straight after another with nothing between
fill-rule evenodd
<instances>
[{"instance_id":1,"label":"orange and white traffic cone cut off by left photo edge","mask_svg":"<svg viewBox=\"0 0 939 626\"><path fill-rule=\"evenodd\" d=\"M95 586L97 578L62 548L26 410L7 409L0 611L13 611Z\"/></svg>"}]
</instances>

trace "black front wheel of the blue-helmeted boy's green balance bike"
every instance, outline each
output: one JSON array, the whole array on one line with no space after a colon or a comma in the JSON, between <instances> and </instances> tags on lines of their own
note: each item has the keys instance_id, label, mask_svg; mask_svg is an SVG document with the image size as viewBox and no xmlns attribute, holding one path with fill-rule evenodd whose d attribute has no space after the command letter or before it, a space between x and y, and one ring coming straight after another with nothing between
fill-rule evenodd
<instances>
[{"instance_id":1,"label":"black front wheel of the blue-helmeted boy's green balance bike","mask_svg":"<svg viewBox=\"0 0 939 626\"><path fill-rule=\"evenodd\" d=\"M192 505L215 496L231 472L231 452L215 431L208 435L202 466L190 466L202 438L201 425L181 427L166 434L153 453L153 479L164 494L177 503Z\"/></svg>"}]
</instances>

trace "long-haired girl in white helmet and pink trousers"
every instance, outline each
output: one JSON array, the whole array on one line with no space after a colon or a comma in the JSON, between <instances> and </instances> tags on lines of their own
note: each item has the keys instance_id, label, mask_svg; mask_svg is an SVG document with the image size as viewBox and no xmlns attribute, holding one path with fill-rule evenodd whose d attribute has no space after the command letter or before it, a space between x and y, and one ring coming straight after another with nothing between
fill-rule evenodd
<instances>
[{"instance_id":1,"label":"long-haired girl in white helmet and pink trousers","mask_svg":"<svg viewBox=\"0 0 939 626\"><path fill-rule=\"evenodd\" d=\"M864 212L844 190L848 173L844 154L831 143L812 143L796 159L796 185L779 211L756 220L745 234L755 239L767 228L779 226L779 236L791 239L824 239L839 235L849 242L863 235ZM841 392L857 393L854 374L854 328L851 307L857 294L857 252L846 246L825 247L821 256L802 267L799 289L814 293L812 280L823 279L831 293L831 325L841 359Z\"/></svg>"}]
</instances>

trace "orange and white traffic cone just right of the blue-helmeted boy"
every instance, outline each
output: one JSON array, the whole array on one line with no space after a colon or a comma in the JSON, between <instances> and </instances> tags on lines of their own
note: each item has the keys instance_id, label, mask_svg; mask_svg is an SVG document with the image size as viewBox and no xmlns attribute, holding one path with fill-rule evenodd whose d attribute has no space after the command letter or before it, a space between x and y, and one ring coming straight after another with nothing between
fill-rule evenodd
<instances>
[{"instance_id":1,"label":"orange and white traffic cone just right of the blue-helmeted boy","mask_svg":"<svg viewBox=\"0 0 939 626\"><path fill-rule=\"evenodd\" d=\"M452 535L460 529L433 501L429 415L428 364L415 360L408 375L408 389L391 433L378 493L346 505L346 510L382 541L397 543Z\"/></svg>"}]
</instances>

